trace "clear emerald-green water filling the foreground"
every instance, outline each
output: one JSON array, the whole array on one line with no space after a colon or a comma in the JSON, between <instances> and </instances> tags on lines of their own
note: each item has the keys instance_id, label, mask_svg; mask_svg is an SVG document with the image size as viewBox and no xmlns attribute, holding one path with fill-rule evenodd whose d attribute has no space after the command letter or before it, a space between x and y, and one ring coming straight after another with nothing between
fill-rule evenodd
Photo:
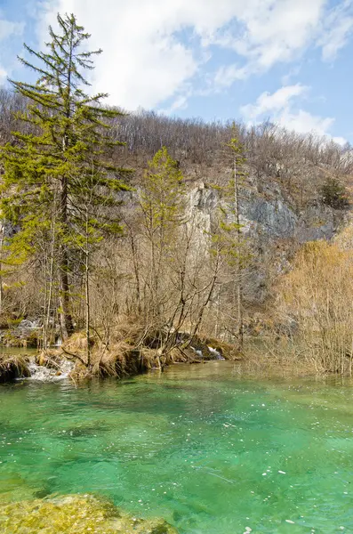
<instances>
[{"instance_id":1,"label":"clear emerald-green water filling the foreground","mask_svg":"<svg viewBox=\"0 0 353 534\"><path fill-rule=\"evenodd\" d=\"M0 500L93 492L185 534L353 532L353 388L175 366L0 386Z\"/></svg>"}]
</instances>

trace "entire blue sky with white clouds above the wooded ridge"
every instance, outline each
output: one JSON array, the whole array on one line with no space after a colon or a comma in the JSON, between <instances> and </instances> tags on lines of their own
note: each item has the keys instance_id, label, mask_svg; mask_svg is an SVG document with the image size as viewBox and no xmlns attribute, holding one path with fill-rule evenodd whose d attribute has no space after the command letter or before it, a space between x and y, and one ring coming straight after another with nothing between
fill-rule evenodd
<instances>
[{"instance_id":1,"label":"entire blue sky with white clouds above the wooded ridge","mask_svg":"<svg viewBox=\"0 0 353 534\"><path fill-rule=\"evenodd\" d=\"M103 49L92 91L110 104L353 143L353 0L0 0L0 85L30 79L17 55L57 12Z\"/></svg>"}]
</instances>

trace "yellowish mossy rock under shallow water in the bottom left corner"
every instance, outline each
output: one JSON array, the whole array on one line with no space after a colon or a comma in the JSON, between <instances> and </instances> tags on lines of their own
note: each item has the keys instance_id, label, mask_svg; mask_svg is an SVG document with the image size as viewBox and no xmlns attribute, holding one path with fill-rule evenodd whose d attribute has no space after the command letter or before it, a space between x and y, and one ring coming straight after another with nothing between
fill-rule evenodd
<instances>
[{"instance_id":1,"label":"yellowish mossy rock under shallow water in the bottom left corner","mask_svg":"<svg viewBox=\"0 0 353 534\"><path fill-rule=\"evenodd\" d=\"M90 495L0 505L2 534L178 534L164 520L125 514Z\"/></svg>"}]
</instances>

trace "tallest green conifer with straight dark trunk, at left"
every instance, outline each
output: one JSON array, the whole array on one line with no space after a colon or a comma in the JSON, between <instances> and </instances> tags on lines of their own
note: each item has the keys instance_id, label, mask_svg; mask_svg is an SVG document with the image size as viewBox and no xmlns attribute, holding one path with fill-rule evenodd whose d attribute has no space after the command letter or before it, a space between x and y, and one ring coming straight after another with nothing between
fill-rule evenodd
<instances>
[{"instance_id":1,"label":"tallest green conifer with straight dark trunk, at left","mask_svg":"<svg viewBox=\"0 0 353 534\"><path fill-rule=\"evenodd\" d=\"M35 52L25 44L34 62L19 58L36 73L36 83L10 80L14 90L28 100L28 109L20 118L29 124L31 133L14 133L12 142L0 152L4 162L1 209L20 228L10 243L8 263L23 262L35 254L38 232L50 233L55 221L60 326L66 337L73 330L70 275L77 235L84 229L91 239L92 235L100 239L106 231L119 231L106 208L114 214L116 191L128 189L124 176L129 171L115 166L111 158L114 147L124 143L109 137L109 119L122 114L102 107L107 94L89 96L84 91L89 85L84 71L93 69L92 58L101 51L85 50L90 35L78 26L73 14L58 14L57 20L59 32L49 27L46 52Z\"/></svg>"}]
</instances>

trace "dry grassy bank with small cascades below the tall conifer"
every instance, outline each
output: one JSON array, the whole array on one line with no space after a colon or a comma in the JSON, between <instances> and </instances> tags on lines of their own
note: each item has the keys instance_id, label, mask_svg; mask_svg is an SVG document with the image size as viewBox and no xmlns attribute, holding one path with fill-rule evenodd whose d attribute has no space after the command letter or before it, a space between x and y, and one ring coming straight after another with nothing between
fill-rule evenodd
<instances>
[{"instance_id":1,"label":"dry grassy bank with small cascades below the tall conifer","mask_svg":"<svg viewBox=\"0 0 353 534\"><path fill-rule=\"evenodd\" d=\"M20 353L21 352L21 353ZM146 330L125 323L107 339L97 332L87 338L76 332L60 347L38 352L15 349L0 352L0 382L36 376L38 380L69 377L74 382L93 377L135 376L174 363L203 363L208 360L239 360L232 344L207 336L178 332L172 338L166 330Z\"/></svg>"}]
</instances>

